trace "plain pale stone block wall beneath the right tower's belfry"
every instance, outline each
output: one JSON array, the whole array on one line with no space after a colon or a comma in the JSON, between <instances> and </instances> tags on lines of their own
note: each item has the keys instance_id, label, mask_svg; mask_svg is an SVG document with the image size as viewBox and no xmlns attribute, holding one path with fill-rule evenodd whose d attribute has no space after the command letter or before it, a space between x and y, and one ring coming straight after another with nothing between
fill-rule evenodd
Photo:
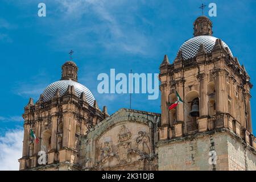
<instances>
[{"instance_id":1,"label":"plain pale stone block wall beneath the right tower's belfry","mask_svg":"<svg viewBox=\"0 0 256 182\"><path fill-rule=\"evenodd\" d=\"M210 153L216 152L216 164ZM229 131L159 143L159 170L255 170L256 152Z\"/></svg>"}]
</instances>

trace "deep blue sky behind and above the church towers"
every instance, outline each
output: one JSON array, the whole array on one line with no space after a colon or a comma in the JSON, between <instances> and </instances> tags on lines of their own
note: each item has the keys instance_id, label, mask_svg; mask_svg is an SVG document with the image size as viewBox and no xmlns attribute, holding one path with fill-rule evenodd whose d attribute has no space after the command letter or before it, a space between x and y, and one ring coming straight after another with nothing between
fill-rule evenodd
<instances>
[{"instance_id":1,"label":"deep blue sky behind and above the church towers","mask_svg":"<svg viewBox=\"0 0 256 182\"><path fill-rule=\"evenodd\" d=\"M47 16L38 16L46 3ZM97 75L158 73L165 54L173 61L177 50L193 35L193 21L204 2L217 4L213 35L224 40L234 56L256 79L256 1L135 1L135 0L0 0L0 136L20 130L23 108L61 76L61 65L75 51L79 82L86 85L110 114L129 107L129 94L98 94ZM207 8L207 11L209 9ZM251 90L256 133L256 91ZM160 100L133 95L133 109L160 112Z\"/></svg>"}]
</instances>

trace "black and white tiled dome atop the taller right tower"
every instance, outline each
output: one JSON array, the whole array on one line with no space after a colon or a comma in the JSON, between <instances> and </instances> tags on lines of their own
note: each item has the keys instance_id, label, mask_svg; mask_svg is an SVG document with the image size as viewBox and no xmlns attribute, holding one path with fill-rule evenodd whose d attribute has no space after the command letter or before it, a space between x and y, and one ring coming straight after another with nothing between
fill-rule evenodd
<instances>
[{"instance_id":1,"label":"black and white tiled dome atop the taller right tower","mask_svg":"<svg viewBox=\"0 0 256 182\"><path fill-rule=\"evenodd\" d=\"M216 37L209 36L209 35L195 36L195 37L187 40L186 42L184 42L182 44L182 46L180 47L179 51L181 50L183 59L186 60L186 59L194 57L196 55L197 51L199 50L200 44L203 43L205 51L207 53L210 53L212 51L212 48L215 44L216 39L217 39ZM224 47L228 47L228 45L223 41L222 41L222 44ZM228 47L228 49L229 49L229 47ZM231 53L231 56L233 57L230 49L229 49L229 51Z\"/></svg>"}]
</instances>

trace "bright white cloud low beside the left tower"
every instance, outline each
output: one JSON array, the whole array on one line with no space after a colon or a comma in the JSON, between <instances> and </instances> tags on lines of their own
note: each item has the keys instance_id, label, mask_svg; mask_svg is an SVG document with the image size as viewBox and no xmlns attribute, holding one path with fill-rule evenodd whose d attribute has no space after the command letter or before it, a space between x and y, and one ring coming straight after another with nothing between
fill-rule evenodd
<instances>
[{"instance_id":1,"label":"bright white cloud low beside the left tower","mask_svg":"<svg viewBox=\"0 0 256 182\"><path fill-rule=\"evenodd\" d=\"M18 159L22 157L23 130L6 131L0 137L0 171L19 170Z\"/></svg>"}]
</instances>

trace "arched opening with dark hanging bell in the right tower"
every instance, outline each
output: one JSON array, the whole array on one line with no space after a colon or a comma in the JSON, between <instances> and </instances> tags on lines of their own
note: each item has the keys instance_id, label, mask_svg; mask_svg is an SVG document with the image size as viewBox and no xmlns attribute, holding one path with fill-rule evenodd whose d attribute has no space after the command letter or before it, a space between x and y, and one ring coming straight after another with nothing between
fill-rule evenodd
<instances>
[{"instance_id":1,"label":"arched opening with dark hanging bell in the right tower","mask_svg":"<svg viewBox=\"0 0 256 182\"><path fill-rule=\"evenodd\" d=\"M197 130L197 117L199 117L199 93L191 90L185 96L184 103L185 130L191 132Z\"/></svg>"}]
</instances>

